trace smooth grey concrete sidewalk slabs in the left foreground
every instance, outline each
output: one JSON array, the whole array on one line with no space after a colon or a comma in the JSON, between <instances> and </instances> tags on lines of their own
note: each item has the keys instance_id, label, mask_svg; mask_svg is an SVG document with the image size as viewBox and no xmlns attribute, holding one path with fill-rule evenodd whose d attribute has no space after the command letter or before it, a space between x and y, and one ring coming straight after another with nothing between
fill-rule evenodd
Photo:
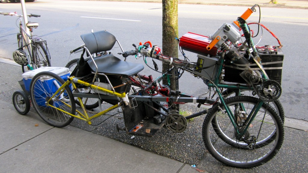
<instances>
[{"instance_id":1,"label":"smooth grey concrete sidewalk slabs in the left foreground","mask_svg":"<svg viewBox=\"0 0 308 173\"><path fill-rule=\"evenodd\" d=\"M0 173L198 172L191 166L72 126L54 128L0 100Z\"/></svg>"}]
</instances>

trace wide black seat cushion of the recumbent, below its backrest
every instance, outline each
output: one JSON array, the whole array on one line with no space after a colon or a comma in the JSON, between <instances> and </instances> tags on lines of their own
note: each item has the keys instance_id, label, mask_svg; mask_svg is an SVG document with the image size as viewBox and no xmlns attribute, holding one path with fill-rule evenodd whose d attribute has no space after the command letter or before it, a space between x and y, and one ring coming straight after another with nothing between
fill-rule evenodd
<instances>
[{"instance_id":1,"label":"wide black seat cushion of the recumbent, below its backrest","mask_svg":"<svg viewBox=\"0 0 308 173\"><path fill-rule=\"evenodd\" d=\"M98 67L98 73L121 74L131 76L133 74L141 72L144 69L144 66L142 64L122 61L121 59L111 54L94 57L93 59ZM88 64L90 65L91 71L95 73L96 67L92 59L88 61Z\"/></svg>"}]
</instances>

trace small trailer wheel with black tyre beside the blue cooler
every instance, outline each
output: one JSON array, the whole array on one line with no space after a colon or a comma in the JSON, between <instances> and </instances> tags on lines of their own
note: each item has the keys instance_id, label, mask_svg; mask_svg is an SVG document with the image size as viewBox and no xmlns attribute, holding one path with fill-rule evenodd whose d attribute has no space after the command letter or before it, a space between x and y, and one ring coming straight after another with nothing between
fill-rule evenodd
<instances>
[{"instance_id":1,"label":"small trailer wheel with black tyre beside the blue cooler","mask_svg":"<svg viewBox=\"0 0 308 173\"><path fill-rule=\"evenodd\" d=\"M30 99L23 91L13 93L13 104L16 111L21 115L26 115L30 111Z\"/></svg>"}]
</instances>

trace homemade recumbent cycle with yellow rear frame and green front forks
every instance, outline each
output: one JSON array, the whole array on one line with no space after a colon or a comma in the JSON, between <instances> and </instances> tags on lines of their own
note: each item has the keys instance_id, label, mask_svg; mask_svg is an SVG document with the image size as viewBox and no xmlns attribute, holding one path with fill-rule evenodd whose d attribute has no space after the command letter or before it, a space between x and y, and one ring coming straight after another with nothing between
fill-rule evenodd
<instances>
[{"instance_id":1,"label":"homemade recumbent cycle with yellow rear frame and green front forks","mask_svg":"<svg viewBox=\"0 0 308 173\"><path fill-rule=\"evenodd\" d=\"M82 49L83 53L69 77L66 73L57 75L43 71L32 78L32 104L39 116L54 127L67 126L74 118L92 124L91 120L120 108L124 128L118 125L116 128L140 136L153 136L164 126L172 132L184 132L187 119L207 114L202 136L208 151L216 159L234 167L255 167L266 163L277 154L284 139L283 117L276 112L283 113L282 106L273 108L269 104L278 100L282 91L281 74L275 73L279 73L282 67L271 66L282 64L282 61L268 58L281 55L281 44L274 47L254 44L245 20L256 6L247 9L237 21L224 23L210 37L194 33L182 36L180 47L198 53L197 62L165 56L158 46L150 43L134 45L133 50L124 52L115 36L107 31L83 34L81 38L85 44L73 51ZM239 43L242 38L240 29L244 35L242 43ZM142 64L123 61L107 53L115 42L119 43L120 54L125 58L129 55L148 57L168 63L172 68L157 78L140 75L144 69ZM92 56L100 52L106 53ZM90 58L84 59L85 53ZM218 97L194 97L179 92L180 70L203 80L208 87L214 88ZM228 78L228 73L233 73L238 81ZM170 76L175 78L176 91L160 84L164 77ZM229 89L234 96L225 98L222 88ZM241 90L257 97L241 95ZM100 101L111 106L92 112L86 108L89 99L95 104L98 101L99 108ZM76 107L76 103L81 109ZM213 106L184 117L178 111L182 103Z\"/></svg>"}]
</instances>

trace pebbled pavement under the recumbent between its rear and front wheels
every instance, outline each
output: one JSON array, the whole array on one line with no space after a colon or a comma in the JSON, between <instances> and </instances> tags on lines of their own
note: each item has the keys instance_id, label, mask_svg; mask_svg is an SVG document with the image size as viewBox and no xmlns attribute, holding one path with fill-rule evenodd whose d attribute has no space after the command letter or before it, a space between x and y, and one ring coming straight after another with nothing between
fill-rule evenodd
<instances>
[{"instance_id":1,"label":"pebbled pavement under the recumbent between its rear and front wheels","mask_svg":"<svg viewBox=\"0 0 308 173\"><path fill-rule=\"evenodd\" d=\"M110 104L103 104L102 107L107 108L108 106ZM186 112L204 110L204 108L197 108L188 104L181 105L180 109ZM95 111L98 111L98 109L96 108ZM109 112L111 115L115 113L117 113L117 110ZM123 114L121 113L117 116L123 116ZM107 118L108 116L101 116L93 120L92 124L99 124ZM75 118L71 125L183 163L196 164L206 154L201 132L204 118L205 115L202 115L194 118L193 121L189 121L187 129L183 133L174 133L167 128L162 128L153 137L134 136L133 139L132 135L127 135L124 131L117 131L117 124L120 128L124 127L124 120L119 118L111 117L97 126L88 125L84 121Z\"/></svg>"}]
</instances>

